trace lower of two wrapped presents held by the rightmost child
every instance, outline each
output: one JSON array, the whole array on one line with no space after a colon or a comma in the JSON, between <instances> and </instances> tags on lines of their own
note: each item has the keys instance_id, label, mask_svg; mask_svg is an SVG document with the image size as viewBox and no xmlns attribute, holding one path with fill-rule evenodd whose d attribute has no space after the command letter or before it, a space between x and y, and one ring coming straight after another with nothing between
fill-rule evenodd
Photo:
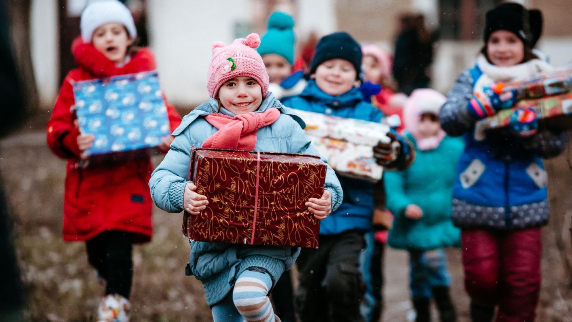
<instances>
[{"instance_id":1,"label":"lower of two wrapped presents held by the rightmost child","mask_svg":"<svg viewBox=\"0 0 572 322\"><path fill-rule=\"evenodd\" d=\"M482 130L506 128L518 109L532 109L541 126L562 131L572 129L572 93L519 101L511 109L502 109L495 115L478 121L476 127Z\"/></svg>"}]
</instances>

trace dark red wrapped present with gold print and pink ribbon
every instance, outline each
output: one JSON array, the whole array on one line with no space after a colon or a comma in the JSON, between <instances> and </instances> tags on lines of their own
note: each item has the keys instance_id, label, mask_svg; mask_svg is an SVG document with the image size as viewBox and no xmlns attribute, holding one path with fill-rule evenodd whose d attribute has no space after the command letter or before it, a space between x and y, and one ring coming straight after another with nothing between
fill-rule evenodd
<instances>
[{"instance_id":1,"label":"dark red wrapped present with gold print and pink ribbon","mask_svg":"<svg viewBox=\"0 0 572 322\"><path fill-rule=\"evenodd\" d=\"M190 180L209 204L185 213L182 233L195 241L317 248L319 220L309 198L324 193L319 156L196 148Z\"/></svg>"}]
</instances>

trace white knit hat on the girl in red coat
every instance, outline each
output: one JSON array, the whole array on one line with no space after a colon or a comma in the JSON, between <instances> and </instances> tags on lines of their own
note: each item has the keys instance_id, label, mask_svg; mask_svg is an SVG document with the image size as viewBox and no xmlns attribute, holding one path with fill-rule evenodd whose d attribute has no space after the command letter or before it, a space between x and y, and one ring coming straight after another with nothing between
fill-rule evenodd
<instances>
[{"instance_id":1,"label":"white knit hat on the girl in red coat","mask_svg":"<svg viewBox=\"0 0 572 322\"><path fill-rule=\"evenodd\" d=\"M91 42L93 31L109 22L122 23L127 28L131 38L137 37L137 29L131 11L117 0L101 0L90 3L81 14L82 40Z\"/></svg>"}]
</instances>

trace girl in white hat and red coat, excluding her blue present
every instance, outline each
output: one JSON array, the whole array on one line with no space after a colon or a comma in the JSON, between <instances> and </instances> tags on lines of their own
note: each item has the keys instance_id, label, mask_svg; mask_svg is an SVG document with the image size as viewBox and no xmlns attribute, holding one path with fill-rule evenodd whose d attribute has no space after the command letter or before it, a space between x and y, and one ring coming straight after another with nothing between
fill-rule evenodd
<instances>
[{"instance_id":1,"label":"girl in white hat and red coat, excluding her blue present","mask_svg":"<svg viewBox=\"0 0 572 322\"><path fill-rule=\"evenodd\" d=\"M152 236L152 202L146 183L153 168L149 158L78 167L94 137L78 131L72 84L145 72L156 66L149 49L129 53L137 34L129 10L116 0L86 7L81 15L81 35L73 48L79 68L63 81L47 123L47 144L54 154L67 159L63 239L85 241L89 263L107 282L98 321L127 321L132 244L148 242ZM170 127L176 128L181 118L167 107ZM171 141L172 136L167 136L160 148L168 150Z\"/></svg>"}]
</instances>

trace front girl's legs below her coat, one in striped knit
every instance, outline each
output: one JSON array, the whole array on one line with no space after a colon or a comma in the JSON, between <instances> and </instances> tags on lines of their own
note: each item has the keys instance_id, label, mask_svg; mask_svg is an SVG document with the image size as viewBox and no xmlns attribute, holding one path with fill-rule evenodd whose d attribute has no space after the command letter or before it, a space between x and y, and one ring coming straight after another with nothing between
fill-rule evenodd
<instances>
[{"instance_id":1,"label":"front girl's legs below her coat, one in striped knit","mask_svg":"<svg viewBox=\"0 0 572 322\"><path fill-rule=\"evenodd\" d=\"M245 270L235 282L232 294L212 307L215 322L275 322L268 298L272 278L268 273Z\"/></svg>"}]
</instances>

